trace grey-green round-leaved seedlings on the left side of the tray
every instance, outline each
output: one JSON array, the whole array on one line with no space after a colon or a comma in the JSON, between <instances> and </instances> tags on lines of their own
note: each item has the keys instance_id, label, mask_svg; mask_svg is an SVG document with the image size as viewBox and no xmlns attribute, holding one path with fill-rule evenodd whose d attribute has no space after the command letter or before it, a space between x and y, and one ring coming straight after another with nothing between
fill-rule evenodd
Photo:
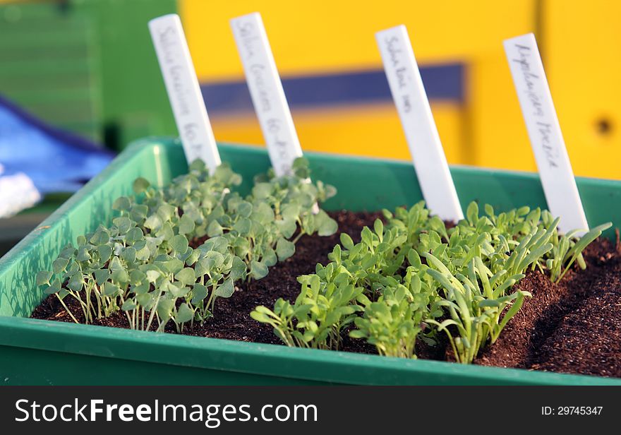
<instances>
[{"instance_id":1,"label":"grey-green round-leaved seedlings on the left side of the tray","mask_svg":"<svg viewBox=\"0 0 621 435\"><path fill-rule=\"evenodd\" d=\"M56 294L76 323L67 297L84 323L122 311L130 328L162 331L171 321L181 332L210 318L236 282L263 278L292 256L301 235L336 232L318 208L335 190L309 175L300 158L291 175L258 177L245 197L233 191L239 174L221 165L210 175L200 160L164 189L136 179L135 195L114 201L112 225L66 246L37 285Z\"/></svg>"}]
</instances>

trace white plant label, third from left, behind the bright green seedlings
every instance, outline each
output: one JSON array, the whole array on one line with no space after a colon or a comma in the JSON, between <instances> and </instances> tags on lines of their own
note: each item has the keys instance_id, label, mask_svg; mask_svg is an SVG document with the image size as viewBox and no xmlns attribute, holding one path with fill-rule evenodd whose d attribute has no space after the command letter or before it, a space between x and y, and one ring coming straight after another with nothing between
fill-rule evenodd
<instances>
[{"instance_id":1,"label":"white plant label, third from left, behind the bright green seedlings","mask_svg":"<svg viewBox=\"0 0 621 435\"><path fill-rule=\"evenodd\" d=\"M428 208L442 220L464 218L404 25L375 34L414 169Z\"/></svg>"}]
</instances>

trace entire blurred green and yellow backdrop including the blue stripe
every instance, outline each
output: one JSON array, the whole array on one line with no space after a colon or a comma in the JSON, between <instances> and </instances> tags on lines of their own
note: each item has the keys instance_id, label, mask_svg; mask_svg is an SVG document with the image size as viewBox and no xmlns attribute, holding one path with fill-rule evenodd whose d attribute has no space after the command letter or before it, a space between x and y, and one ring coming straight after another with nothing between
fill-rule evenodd
<instances>
[{"instance_id":1,"label":"entire blurred green and yellow backdrop including the blue stripe","mask_svg":"<svg viewBox=\"0 0 621 435\"><path fill-rule=\"evenodd\" d=\"M262 144L229 26L231 18L259 11L303 150L410 158L374 37L405 24L448 161L534 171L502 49L503 39L534 32L574 172L621 179L620 1L9 3L13 7L0 8L0 93L52 124L119 149L139 136L176 133L147 31L148 19L174 11L183 20L217 140ZM24 4L54 5L54 11ZM72 42L73 64L36 58L42 44L54 49L54 38L41 33L52 28L73 29L63 34L66 42L85 40ZM16 49L18 41L23 45ZM59 66L73 68L76 79L53 76ZM76 88L78 81L85 85Z\"/></svg>"}]
</instances>

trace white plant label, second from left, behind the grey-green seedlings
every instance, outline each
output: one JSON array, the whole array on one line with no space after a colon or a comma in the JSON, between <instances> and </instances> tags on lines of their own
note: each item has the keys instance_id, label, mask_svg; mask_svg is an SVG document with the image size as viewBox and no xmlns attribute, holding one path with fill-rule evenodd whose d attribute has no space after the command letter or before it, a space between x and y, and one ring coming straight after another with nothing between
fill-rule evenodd
<instances>
[{"instance_id":1,"label":"white plant label, second from left, behind the grey-green seedlings","mask_svg":"<svg viewBox=\"0 0 621 435\"><path fill-rule=\"evenodd\" d=\"M291 174L291 165L302 156L302 148L263 20L259 13L250 13L233 18L231 28L272 167L277 177Z\"/></svg>"}]
</instances>

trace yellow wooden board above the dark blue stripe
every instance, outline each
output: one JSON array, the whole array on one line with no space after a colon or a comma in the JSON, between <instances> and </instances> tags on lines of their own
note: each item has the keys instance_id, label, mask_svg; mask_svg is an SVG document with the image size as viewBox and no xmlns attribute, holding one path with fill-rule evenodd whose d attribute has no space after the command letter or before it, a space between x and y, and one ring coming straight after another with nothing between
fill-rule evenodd
<instances>
[{"instance_id":1,"label":"yellow wooden board above the dark blue stripe","mask_svg":"<svg viewBox=\"0 0 621 435\"><path fill-rule=\"evenodd\" d=\"M380 68L374 33L409 28L419 61L468 60L498 52L503 37L533 22L533 0L443 1L205 1L180 0L198 76L241 78L229 19L260 11L280 73Z\"/></svg>"}]
</instances>

